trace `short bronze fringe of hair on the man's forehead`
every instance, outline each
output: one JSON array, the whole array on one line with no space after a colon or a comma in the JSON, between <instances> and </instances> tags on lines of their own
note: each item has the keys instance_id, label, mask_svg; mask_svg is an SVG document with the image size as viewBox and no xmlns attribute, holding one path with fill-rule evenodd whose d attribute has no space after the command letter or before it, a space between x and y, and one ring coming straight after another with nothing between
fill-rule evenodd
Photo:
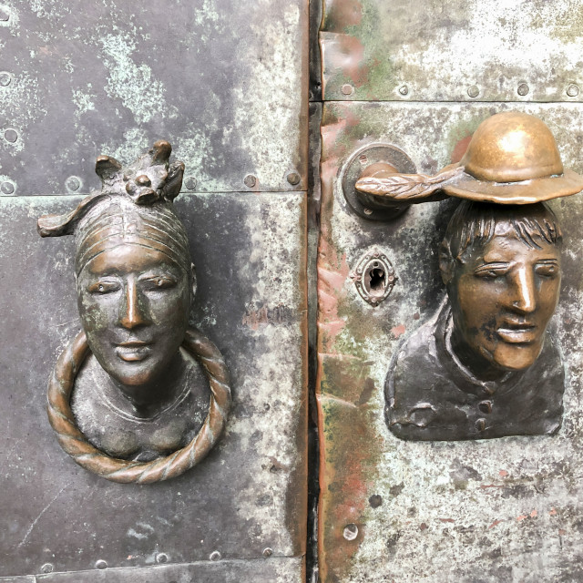
<instances>
[{"instance_id":1,"label":"short bronze fringe of hair on the man's forehead","mask_svg":"<svg viewBox=\"0 0 583 583\"><path fill-rule=\"evenodd\" d=\"M560 245L563 240L557 217L544 202L502 205L463 200L445 230L442 259L462 261L466 252L484 249L499 223L512 226L517 239L532 249L541 249L544 242Z\"/></svg>"}]
</instances>

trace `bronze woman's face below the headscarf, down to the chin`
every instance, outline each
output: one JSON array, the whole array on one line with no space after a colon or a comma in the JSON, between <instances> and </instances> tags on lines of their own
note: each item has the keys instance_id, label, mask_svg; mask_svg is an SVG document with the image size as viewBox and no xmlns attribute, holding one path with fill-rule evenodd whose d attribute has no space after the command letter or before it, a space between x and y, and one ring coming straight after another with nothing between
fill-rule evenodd
<instances>
[{"instance_id":1,"label":"bronze woman's face below the headscarf, down to the chin","mask_svg":"<svg viewBox=\"0 0 583 583\"><path fill-rule=\"evenodd\" d=\"M168 255L122 243L93 257L77 276L87 343L119 384L156 383L184 339L191 274Z\"/></svg>"}]
</instances>

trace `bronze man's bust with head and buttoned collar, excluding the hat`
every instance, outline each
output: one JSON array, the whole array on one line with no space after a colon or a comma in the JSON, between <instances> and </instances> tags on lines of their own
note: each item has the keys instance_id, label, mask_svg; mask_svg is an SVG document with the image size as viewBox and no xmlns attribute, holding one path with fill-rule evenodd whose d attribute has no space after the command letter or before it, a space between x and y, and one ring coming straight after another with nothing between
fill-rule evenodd
<instances>
[{"instance_id":1,"label":"bronze man's bust with head and buttoned collar, excluding the hat","mask_svg":"<svg viewBox=\"0 0 583 583\"><path fill-rule=\"evenodd\" d=\"M562 236L544 206L464 201L441 245L447 298L394 354L389 428L404 439L557 433L565 373L547 324Z\"/></svg>"}]
</instances>

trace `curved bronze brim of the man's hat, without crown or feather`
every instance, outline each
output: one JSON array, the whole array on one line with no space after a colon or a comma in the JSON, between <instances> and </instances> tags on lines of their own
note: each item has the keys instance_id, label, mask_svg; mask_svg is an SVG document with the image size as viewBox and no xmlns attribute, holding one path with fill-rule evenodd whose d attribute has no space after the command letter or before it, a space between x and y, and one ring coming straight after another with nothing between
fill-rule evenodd
<instances>
[{"instance_id":1,"label":"curved bronze brim of the man's hat, without crown or feather","mask_svg":"<svg viewBox=\"0 0 583 583\"><path fill-rule=\"evenodd\" d=\"M559 199L583 190L583 177L573 170L564 170L561 176L522 180L521 182L488 182L477 180L463 172L444 184L446 194L458 199L496 202L496 204L533 204Z\"/></svg>"}]
</instances>

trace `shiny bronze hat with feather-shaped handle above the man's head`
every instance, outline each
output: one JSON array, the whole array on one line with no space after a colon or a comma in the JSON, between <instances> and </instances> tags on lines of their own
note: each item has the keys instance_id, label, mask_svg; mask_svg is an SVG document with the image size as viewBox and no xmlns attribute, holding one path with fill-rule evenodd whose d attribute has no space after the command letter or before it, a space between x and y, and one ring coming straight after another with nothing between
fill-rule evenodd
<instances>
[{"instance_id":1,"label":"shiny bronze hat with feather-shaped handle above the man's head","mask_svg":"<svg viewBox=\"0 0 583 583\"><path fill-rule=\"evenodd\" d=\"M545 122L519 111L506 111L483 121L464 157L435 176L363 178L356 182L356 189L410 203L423 202L441 190L461 199L531 204L580 192L583 177L563 168L557 142Z\"/></svg>"}]
</instances>

